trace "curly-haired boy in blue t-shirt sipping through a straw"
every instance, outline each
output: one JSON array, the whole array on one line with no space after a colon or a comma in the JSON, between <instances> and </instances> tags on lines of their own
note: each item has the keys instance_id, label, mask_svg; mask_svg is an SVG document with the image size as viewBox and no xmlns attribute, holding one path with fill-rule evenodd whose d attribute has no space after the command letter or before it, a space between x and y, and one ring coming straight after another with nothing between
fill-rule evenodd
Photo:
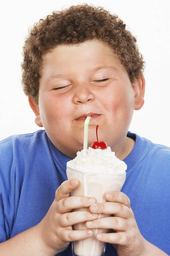
<instances>
[{"instance_id":1,"label":"curly-haired boy in blue t-shirt sipping through a straw","mask_svg":"<svg viewBox=\"0 0 170 256\"><path fill-rule=\"evenodd\" d=\"M170 148L128 132L145 82L125 24L102 8L72 6L35 24L23 56L24 92L45 131L1 142L0 255L72 255L70 242L94 228L111 229L96 237L108 243L105 256L170 254ZM79 182L67 180L66 163L82 150L89 115L88 145L98 124L100 140L127 163L122 192L104 204L69 197ZM71 212L82 207L89 212ZM72 230L79 222L87 230Z\"/></svg>"}]
</instances>

